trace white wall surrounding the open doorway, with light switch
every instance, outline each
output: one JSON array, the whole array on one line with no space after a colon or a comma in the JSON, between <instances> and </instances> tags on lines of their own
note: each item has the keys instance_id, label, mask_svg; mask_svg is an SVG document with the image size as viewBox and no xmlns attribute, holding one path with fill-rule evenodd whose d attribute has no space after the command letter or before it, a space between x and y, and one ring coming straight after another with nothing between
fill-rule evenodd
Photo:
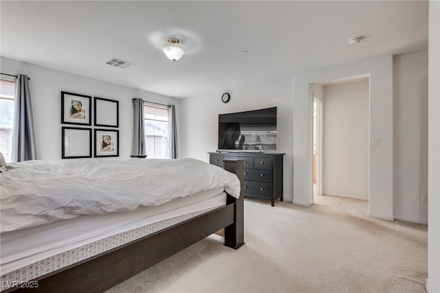
<instances>
[{"instance_id":1,"label":"white wall surrounding the open doorway, with light switch","mask_svg":"<svg viewBox=\"0 0 440 293\"><path fill-rule=\"evenodd\" d=\"M374 148L370 146L369 213L375 218L394 220L392 56L350 62L295 75L293 201L301 205L313 203L311 184L313 97L309 85L359 76L370 77L370 139L380 137L380 145Z\"/></svg>"}]
</instances>

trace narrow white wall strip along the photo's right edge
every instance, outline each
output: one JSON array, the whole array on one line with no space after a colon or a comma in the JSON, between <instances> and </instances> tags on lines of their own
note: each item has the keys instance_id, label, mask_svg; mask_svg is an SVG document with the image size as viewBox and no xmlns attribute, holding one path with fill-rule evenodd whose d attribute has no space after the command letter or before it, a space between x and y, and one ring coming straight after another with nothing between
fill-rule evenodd
<instances>
[{"instance_id":1,"label":"narrow white wall strip along the photo's right edge","mask_svg":"<svg viewBox=\"0 0 440 293\"><path fill-rule=\"evenodd\" d=\"M440 2L429 1L428 293L440 292Z\"/></svg>"}]
</instances>

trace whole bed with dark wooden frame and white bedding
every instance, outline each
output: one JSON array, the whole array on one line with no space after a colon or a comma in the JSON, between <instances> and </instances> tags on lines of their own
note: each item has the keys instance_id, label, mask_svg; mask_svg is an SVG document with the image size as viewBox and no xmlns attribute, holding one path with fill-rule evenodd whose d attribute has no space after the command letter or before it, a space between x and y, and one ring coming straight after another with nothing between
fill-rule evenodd
<instances>
[{"instance_id":1,"label":"whole bed with dark wooden frame and white bedding","mask_svg":"<svg viewBox=\"0 0 440 293\"><path fill-rule=\"evenodd\" d=\"M244 244L241 160L28 161L0 176L1 292L103 292L221 228Z\"/></svg>"}]
</instances>

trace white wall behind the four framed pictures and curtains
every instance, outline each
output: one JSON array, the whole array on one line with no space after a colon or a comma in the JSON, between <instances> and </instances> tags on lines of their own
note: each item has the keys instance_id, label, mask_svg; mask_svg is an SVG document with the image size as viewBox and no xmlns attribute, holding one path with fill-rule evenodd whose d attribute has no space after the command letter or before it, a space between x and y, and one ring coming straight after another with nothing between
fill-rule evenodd
<instances>
[{"instance_id":1,"label":"white wall behind the four framed pictures and curtains","mask_svg":"<svg viewBox=\"0 0 440 293\"><path fill-rule=\"evenodd\" d=\"M109 67L109 70L121 69ZM61 160L61 91L119 101L121 158L128 158L131 154L133 135L133 106L131 99L133 97L142 97L151 102L176 104L176 112L179 112L178 99L32 65L10 58L1 57L1 72L13 75L21 73L30 77L37 156L41 160ZM177 117L177 119L179 118ZM65 126L76 127L74 125Z\"/></svg>"}]
</instances>

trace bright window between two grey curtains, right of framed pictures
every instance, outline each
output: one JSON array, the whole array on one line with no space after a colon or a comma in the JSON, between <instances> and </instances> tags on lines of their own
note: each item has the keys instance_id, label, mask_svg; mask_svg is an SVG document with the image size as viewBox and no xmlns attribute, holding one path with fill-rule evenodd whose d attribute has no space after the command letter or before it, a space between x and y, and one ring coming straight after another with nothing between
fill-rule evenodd
<instances>
[{"instance_id":1,"label":"bright window between two grey curtains, right of framed pictures","mask_svg":"<svg viewBox=\"0 0 440 293\"><path fill-rule=\"evenodd\" d=\"M144 104L144 124L147 157L168 159L168 107Z\"/></svg>"}]
</instances>

